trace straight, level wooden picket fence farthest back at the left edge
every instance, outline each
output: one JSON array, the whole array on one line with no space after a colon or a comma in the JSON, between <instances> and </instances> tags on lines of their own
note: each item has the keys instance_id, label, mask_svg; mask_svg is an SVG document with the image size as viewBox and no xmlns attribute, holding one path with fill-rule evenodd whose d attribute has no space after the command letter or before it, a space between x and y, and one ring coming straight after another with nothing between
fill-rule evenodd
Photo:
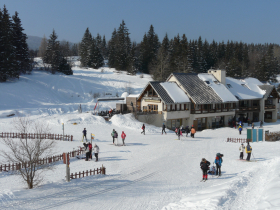
<instances>
[{"instance_id":1,"label":"straight, level wooden picket fence farthest back at the left edge","mask_svg":"<svg viewBox=\"0 0 280 210\"><path fill-rule=\"evenodd\" d=\"M38 133L0 133L0 138L20 138L20 139L51 139L61 141L73 141L73 135L62 134L38 134Z\"/></svg>"}]
</instances>

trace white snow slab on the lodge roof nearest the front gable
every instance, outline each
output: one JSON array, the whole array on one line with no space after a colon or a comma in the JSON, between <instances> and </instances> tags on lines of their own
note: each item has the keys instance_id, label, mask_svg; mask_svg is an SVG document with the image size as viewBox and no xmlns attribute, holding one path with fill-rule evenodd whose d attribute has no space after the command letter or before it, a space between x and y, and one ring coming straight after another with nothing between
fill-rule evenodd
<instances>
[{"instance_id":1,"label":"white snow slab on the lodge roof nearest the front gable","mask_svg":"<svg viewBox=\"0 0 280 210\"><path fill-rule=\"evenodd\" d=\"M165 89L174 103L190 103L189 97L175 82L161 82L160 85Z\"/></svg>"}]
</instances>

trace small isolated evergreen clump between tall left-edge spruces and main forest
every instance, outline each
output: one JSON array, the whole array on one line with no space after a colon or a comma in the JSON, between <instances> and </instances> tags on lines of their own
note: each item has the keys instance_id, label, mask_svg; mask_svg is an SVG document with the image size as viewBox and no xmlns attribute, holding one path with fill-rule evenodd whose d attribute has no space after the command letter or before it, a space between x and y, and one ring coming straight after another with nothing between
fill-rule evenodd
<instances>
[{"instance_id":1,"label":"small isolated evergreen clump between tall left-edge spruces and main forest","mask_svg":"<svg viewBox=\"0 0 280 210\"><path fill-rule=\"evenodd\" d=\"M48 64L46 68L49 69L52 74L62 72L66 75L73 75L69 43L63 42L61 44L57 40L55 30L53 30L48 40L44 36L39 48L39 54L43 62Z\"/></svg>"}]
</instances>

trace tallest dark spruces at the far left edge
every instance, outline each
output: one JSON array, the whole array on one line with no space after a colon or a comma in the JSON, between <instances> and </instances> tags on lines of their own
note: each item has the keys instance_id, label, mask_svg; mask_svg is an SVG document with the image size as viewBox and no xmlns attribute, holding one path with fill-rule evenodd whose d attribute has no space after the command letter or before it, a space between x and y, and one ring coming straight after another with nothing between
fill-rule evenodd
<instances>
[{"instance_id":1,"label":"tallest dark spruces at the far left edge","mask_svg":"<svg viewBox=\"0 0 280 210\"><path fill-rule=\"evenodd\" d=\"M0 8L0 81L19 78L20 74L32 71L27 36L23 33L18 12L12 17L6 6Z\"/></svg>"}]
</instances>

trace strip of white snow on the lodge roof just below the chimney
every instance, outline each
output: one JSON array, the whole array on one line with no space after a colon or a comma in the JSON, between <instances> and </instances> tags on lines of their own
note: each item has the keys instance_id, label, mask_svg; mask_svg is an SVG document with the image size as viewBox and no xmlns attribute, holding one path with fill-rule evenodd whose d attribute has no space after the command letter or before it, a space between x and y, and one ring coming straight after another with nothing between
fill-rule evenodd
<instances>
[{"instance_id":1,"label":"strip of white snow on the lodge roof just below the chimney","mask_svg":"<svg viewBox=\"0 0 280 210\"><path fill-rule=\"evenodd\" d=\"M198 77L204 81L209 87L211 87L217 95L223 100L223 102L237 102L237 98L212 74L198 74Z\"/></svg>"}]
</instances>

